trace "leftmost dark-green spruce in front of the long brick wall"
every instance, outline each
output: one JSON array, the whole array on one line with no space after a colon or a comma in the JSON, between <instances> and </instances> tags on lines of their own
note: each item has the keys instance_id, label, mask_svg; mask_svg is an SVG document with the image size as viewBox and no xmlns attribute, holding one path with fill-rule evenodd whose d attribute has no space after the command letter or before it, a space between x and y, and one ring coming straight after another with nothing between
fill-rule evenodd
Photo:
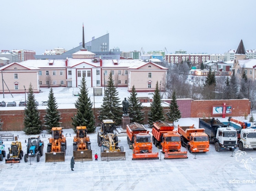
<instances>
[{"instance_id":1,"label":"leftmost dark-green spruce in front of the long brick wall","mask_svg":"<svg viewBox=\"0 0 256 191\"><path fill-rule=\"evenodd\" d=\"M27 135L39 134L42 132L42 127L40 125L40 113L35 103L35 95L31 83L28 87L26 102L26 108L24 110L25 117L23 121L23 131Z\"/></svg>"}]
</instances>

